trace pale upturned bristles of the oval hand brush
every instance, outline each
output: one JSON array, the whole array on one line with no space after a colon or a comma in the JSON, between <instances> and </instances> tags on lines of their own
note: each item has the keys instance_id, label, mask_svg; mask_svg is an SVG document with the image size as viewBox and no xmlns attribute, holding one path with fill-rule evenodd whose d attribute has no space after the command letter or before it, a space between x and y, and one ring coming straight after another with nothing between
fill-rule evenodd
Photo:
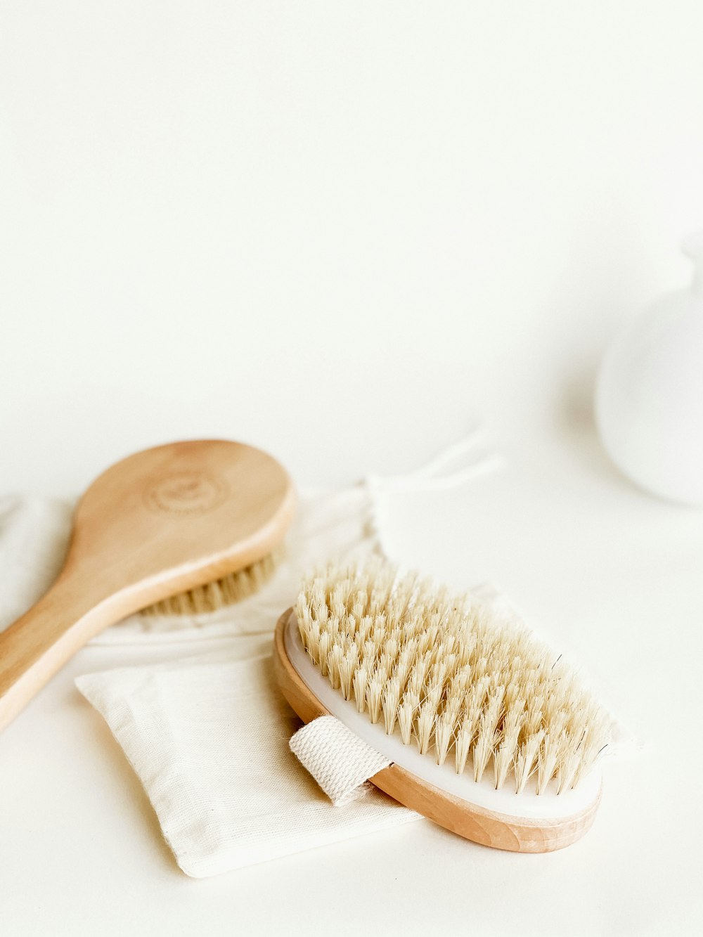
<instances>
[{"instance_id":1,"label":"pale upturned bristles of the oval hand brush","mask_svg":"<svg viewBox=\"0 0 703 937\"><path fill-rule=\"evenodd\" d=\"M605 748L606 712L516 619L382 560L307 578L296 605L307 654L345 699L405 745L488 770L496 788L575 787Z\"/></svg>"}]
</instances>

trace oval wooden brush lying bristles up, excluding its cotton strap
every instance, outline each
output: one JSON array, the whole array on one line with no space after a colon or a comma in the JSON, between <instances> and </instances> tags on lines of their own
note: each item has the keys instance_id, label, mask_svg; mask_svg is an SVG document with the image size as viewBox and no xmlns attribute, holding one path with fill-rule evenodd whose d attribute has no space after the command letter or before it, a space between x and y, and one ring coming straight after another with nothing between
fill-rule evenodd
<instances>
[{"instance_id":1,"label":"oval wooden brush lying bristles up, excluding its cotton strap","mask_svg":"<svg viewBox=\"0 0 703 937\"><path fill-rule=\"evenodd\" d=\"M515 619L382 561L330 567L278 620L303 721L333 715L391 762L370 780L475 842L542 853L591 826L612 723Z\"/></svg>"}]
</instances>

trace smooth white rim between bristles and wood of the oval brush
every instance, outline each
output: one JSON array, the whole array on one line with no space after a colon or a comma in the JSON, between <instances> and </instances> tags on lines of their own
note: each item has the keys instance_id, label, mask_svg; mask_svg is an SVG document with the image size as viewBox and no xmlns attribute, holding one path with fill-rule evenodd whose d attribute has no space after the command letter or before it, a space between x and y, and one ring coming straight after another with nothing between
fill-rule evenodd
<instances>
[{"instance_id":1,"label":"smooth white rim between bristles and wood of the oval brush","mask_svg":"<svg viewBox=\"0 0 703 937\"><path fill-rule=\"evenodd\" d=\"M446 794L506 817L535 820L567 819L588 810L600 796L601 771L598 766L582 778L576 788L557 794L556 781L550 781L546 791L537 795L528 790L516 794L507 787L497 791L487 773L482 781L474 781L471 772L456 774L454 766L448 761L437 765L431 756L420 754L414 747L404 745L397 730L393 735L386 735L381 722L370 722L365 713L357 712L351 700L345 700L339 691L332 688L308 657L294 612L291 612L286 624L284 644L288 660L298 677L331 715L389 761Z\"/></svg>"}]
</instances>

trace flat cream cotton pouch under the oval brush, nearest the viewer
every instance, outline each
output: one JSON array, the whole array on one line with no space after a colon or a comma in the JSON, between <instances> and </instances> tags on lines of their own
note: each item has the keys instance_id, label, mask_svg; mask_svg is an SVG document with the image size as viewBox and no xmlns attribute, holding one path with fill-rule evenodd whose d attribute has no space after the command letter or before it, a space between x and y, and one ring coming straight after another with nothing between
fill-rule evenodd
<instances>
[{"instance_id":1,"label":"flat cream cotton pouch under the oval brush, nearest the viewer","mask_svg":"<svg viewBox=\"0 0 703 937\"><path fill-rule=\"evenodd\" d=\"M245 640L254 656L231 647L76 681L139 775L180 868L202 878L417 819L376 789L332 806L290 751L301 723L266 644Z\"/></svg>"}]
</instances>

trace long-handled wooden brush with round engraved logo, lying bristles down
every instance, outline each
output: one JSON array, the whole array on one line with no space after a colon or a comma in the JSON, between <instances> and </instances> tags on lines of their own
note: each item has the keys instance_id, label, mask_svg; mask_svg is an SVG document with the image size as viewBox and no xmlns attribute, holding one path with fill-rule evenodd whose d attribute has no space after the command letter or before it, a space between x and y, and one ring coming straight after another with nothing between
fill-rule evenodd
<instances>
[{"instance_id":1,"label":"long-handled wooden brush with round engraved logo, lying bristles down","mask_svg":"<svg viewBox=\"0 0 703 937\"><path fill-rule=\"evenodd\" d=\"M238 442L175 442L108 468L76 509L56 582L0 633L0 728L121 618L187 590L163 610L198 611L252 591L293 511L285 469Z\"/></svg>"}]
</instances>

